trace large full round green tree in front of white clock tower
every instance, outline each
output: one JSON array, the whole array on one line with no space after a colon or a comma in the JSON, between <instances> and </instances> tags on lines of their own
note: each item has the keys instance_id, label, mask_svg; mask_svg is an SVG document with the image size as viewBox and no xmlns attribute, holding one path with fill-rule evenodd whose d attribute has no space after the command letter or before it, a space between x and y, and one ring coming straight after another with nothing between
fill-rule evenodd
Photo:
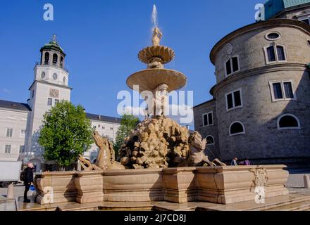
<instances>
[{"instance_id":1,"label":"large full round green tree in front of white clock tower","mask_svg":"<svg viewBox=\"0 0 310 225\"><path fill-rule=\"evenodd\" d=\"M39 144L44 158L61 167L77 161L78 155L93 143L92 127L81 105L61 101L44 115Z\"/></svg>"}]
</instances>

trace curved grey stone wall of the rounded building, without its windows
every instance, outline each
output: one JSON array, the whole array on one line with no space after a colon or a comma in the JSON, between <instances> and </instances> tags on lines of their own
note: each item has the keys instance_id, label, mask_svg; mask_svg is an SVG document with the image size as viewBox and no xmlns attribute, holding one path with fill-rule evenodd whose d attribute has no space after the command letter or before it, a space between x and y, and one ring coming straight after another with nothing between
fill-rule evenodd
<instances>
[{"instance_id":1,"label":"curved grey stone wall of the rounded building, without its windows","mask_svg":"<svg viewBox=\"0 0 310 225\"><path fill-rule=\"evenodd\" d=\"M277 33L270 40L267 35ZM310 26L297 20L276 19L242 27L214 46L216 67L213 101L194 107L195 129L218 136L217 157L224 161L249 158L253 163L290 163L310 160ZM285 60L268 62L268 46L283 46ZM226 75L226 62L237 57L239 69ZM273 82L290 82L294 98L275 101ZM242 105L228 110L226 94L240 90ZM215 107L214 107L215 105ZM203 127L202 115L213 111L213 127ZM299 127L279 129L283 115L297 118ZM241 122L242 134L230 135Z\"/></svg>"}]
</instances>

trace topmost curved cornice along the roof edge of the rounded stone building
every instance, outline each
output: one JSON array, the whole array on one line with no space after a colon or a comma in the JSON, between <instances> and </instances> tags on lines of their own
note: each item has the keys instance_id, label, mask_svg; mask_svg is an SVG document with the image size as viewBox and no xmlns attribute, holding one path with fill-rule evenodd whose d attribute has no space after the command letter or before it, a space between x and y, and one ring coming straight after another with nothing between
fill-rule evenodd
<instances>
[{"instance_id":1,"label":"topmost curved cornice along the roof edge of the rounded stone building","mask_svg":"<svg viewBox=\"0 0 310 225\"><path fill-rule=\"evenodd\" d=\"M219 49L225 46L225 44L228 44L229 41L231 41L232 39L235 39L236 37L239 37L242 34L246 34L254 30L258 30L259 28L269 29L271 27L294 27L310 35L310 26L306 25L306 23L299 21L299 20L272 19L272 20L252 23L250 25L241 27L240 29L235 30L234 32L231 32L230 34L223 37L223 39L218 41L218 43L216 43L216 45L213 46L213 49L211 50L211 53L210 53L211 63L215 65L215 58L216 58L216 54L218 53Z\"/></svg>"}]
</instances>

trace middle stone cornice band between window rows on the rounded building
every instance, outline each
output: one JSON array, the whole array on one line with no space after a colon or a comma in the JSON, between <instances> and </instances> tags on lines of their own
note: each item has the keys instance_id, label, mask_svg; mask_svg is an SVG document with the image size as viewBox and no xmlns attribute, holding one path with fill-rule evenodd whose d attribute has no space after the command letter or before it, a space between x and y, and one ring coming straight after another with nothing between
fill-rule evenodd
<instances>
[{"instance_id":1,"label":"middle stone cornice band between window rows on the rounded building","mask_svg":"<svg viewBox=\"0 0 310 225\"><path fill-rule=\"evenodd\" d=\"M216 84L213 90L213 93L215 95L219 89L223 88L223 86L236 82L240 79L257 76L257 75L264 75L266 73L271 73L271 72L292 71L292 70L310 72L310 70L306 67L306 65L302 63L277 63L273 65L265 65L260 68L254 68L250 70L244 70L242 72L237 72L234 75L230 75L229 77L226 77L221 82L218 82L218 84Z\"/></svg>"}]
</instances>

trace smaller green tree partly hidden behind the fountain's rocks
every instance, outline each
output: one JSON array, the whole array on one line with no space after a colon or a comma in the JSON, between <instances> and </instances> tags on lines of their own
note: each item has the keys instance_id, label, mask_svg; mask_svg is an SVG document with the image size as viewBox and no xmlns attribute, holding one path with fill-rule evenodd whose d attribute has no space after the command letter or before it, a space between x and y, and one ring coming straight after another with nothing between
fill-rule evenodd
<instances>
[{"instance_id":1,"label":"smaller green tree partly hidden behind the fountain's rocks","mask_svg":"<svg viewBox=\"0 0 310 225\"><path fill-rule=\"evenodd\" d=\"M124 114L120 120L120 127L116 133L116 141L114 143L114 150L116 151L116 155L118 155L118 150L122 146L124 139L126 136L130 135L130 131L135 129L140 120L133 115Z\"/></svg>"}]
</instances>

